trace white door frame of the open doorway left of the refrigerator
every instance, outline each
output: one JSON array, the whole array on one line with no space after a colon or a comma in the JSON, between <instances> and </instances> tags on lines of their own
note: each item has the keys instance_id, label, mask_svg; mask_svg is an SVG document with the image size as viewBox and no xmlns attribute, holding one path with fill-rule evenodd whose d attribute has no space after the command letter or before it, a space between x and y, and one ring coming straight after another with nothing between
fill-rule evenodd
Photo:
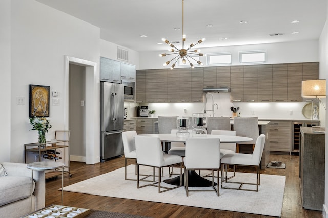
<instances>
[{"instance_id":1,"label":"white door frame of the open doorway left of the refrigerator","mask_svg":"<svg viewBox=\"0 0 328 218\"><path fill-rule=\"evenodd\" d=\"M86 164L100 162L100 105L99 82L97 80L97 63L64 56L64 128L69 128L69 64L84 66L86 68L86 101L85 101L85 160Z\"/></svg>"}]
</instances>

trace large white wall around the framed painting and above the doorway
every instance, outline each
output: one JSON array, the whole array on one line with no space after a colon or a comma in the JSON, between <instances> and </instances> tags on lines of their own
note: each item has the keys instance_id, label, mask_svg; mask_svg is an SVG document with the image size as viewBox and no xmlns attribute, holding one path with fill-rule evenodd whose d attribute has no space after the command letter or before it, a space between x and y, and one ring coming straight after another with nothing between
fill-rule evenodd
<instances>
[{"instance_id":1,"label":"large white wall around the framed painting and above the doorway","mask_svg":"<svg viewBox=\"0 0 328 218\"><path fill-rule=\"evenodd\" d=\"M50 97L52 128L46 137L51 139L55 130L64 129L64 55L99 63L99 37L98 27L44 4L11 1L12 85L7 102L11 105L12 162L24 162L24 144L37 139L36 131L29 131L29 84L50 86L50 91L59 93L59 106L52 106ZM25 98L24 106L16 105L17 96ZM99 140L98 134L95 137Z\"/></svg>"}]
</instances>

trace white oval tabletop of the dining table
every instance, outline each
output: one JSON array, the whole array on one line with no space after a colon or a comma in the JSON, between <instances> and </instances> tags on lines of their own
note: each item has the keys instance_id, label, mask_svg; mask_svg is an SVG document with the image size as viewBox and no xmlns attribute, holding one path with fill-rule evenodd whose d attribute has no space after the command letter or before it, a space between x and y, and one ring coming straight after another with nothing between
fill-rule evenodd
<instances>
[{"instance_id":1,"label":"white oval tabletop of the dining table","mask_svg":"<svg viewBox=\"0 0 328 218\"><path fill-rule=\"evenodd\" d=\"M141 134L143 136L157 136L162 142L186 142L186 137L176 137L175 134ZM192 137L190 135L189 137ZM252 138L242 137L242 136L231 136L231 135L204 135L200 136L201 138L219 138L220 143L237 143L237 142L245 142L252 141ZM200 138L199 137L199 138ZM198 138L198 137L197 137Z\"/></svg>"}]
</instances>

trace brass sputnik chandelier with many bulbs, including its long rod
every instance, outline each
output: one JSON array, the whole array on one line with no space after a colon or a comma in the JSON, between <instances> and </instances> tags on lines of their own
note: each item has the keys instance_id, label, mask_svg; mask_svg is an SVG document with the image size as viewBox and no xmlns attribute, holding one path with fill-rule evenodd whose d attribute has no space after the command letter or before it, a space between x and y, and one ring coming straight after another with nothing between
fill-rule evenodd
<instances>
[{"instance_id":1,"label":"brass sputnik chandelier with many bulbs, including its long rod","mask_svg":"<svg viewBox=\"0 0 328 218\"><path fill-rule=\"evenodd\" d=\"M167 55L176 55L170 61L167 61L167 62L165 62L163 64L163 66L166 66L166 65L170 64L171 61L173 61L174 59L176 59L175 62L172 64L171 69L173 69L175 67L176 62L179 60L177 57L179 57L179 56L180 56L180 59L182 59L182 63L183 64L186 64L186 59L187 59L187 61L189 62L189 65L191 66L191 68L194 68L194 65L193 65L193 63L191 62L190 59L193 59L194 61L196 61L198 64L200 64L202 66L204 65L201 61L196 60L196 59L194 59L193 57L191 57L189 55L189 54L191 54L191 55L192 54L193 55L195 55L195 54L197 55L198 54L199 56L204 56L204 54L199 53L200 52L199 49L193 49L193 50L191 50L195 45L202 43L205 40L204 38L200 39L196 44L193 44L193 43L190 44L189 47L187 49L185 49L186 35L183 32L184 31L183 30L183 1L184 0L182 0L182 49L179 50L174 44L170 43L167 39L162 38L162 40L165 43L167 43L167 44L170 45L169 51L170 52L173 52L173 53L170 53L170 54L166 54L166 53L159 54L160 57L164 57L164 56L167 56Z\"/></svg>"}]
</instances>

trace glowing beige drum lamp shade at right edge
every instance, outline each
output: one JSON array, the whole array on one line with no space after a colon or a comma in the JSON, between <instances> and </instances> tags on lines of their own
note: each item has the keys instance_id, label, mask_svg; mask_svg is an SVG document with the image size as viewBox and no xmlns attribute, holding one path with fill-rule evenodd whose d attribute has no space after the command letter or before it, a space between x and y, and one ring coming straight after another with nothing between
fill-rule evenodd
<instances>
[{"instance_id":1,"label":"glowing beige drum lamp shade at right edge","mask_svg":"<svg viewBox=\"0 0 328 218\"><path fill-rule=\"evenodd\" d=\"M326 80L304 80L302 81L303 98L325 98Z\"/></svg>"}]
</instances>

